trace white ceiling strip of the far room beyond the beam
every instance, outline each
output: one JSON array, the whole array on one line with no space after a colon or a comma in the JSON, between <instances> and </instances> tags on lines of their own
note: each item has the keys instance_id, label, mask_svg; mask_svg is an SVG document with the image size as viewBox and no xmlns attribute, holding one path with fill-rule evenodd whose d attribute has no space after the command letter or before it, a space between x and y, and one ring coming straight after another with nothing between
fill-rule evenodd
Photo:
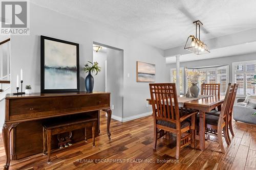
<instances>
[{"instance_id":1,"label":"white ceiling strip of the far room beyond the beam","mask_svg":"<svg viewBox=\"0 0 256 170\"><path fill-rule=\"evenodd\" d=\"M256 42L232 45L223 48L211 50L210 53L204 55L196 55L194 53L185 54L180 57L180 62L205 60L210 58L229 57L236 55L244 55L248 53L256 53ZM166 57L166 64L176 63L176 57Z\"/></svg>"}]
</instances>

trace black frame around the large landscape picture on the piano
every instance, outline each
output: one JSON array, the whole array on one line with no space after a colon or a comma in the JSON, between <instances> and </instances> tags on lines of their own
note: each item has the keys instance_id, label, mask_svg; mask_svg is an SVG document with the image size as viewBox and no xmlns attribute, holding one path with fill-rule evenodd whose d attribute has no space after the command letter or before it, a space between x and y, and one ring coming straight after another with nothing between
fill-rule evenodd
<instances>
[{"instance_id":1,"label":"black frame around the large landscape picture on the piano","mask_svg":"<svg viewBox=\"0 0 256 170\"><path fill-rule=\"evenodd\" d=\"M79 91L79 44L74 42L69 42L65 40L60 40L56 38L40 36L41 43L41 93L49 93L49 92L78 92ZM70 45L76 46L76 84L77 87L74 89L45 89L45 40L56 41L60 43L66 43Z\"/></svg>"}]
</instances>

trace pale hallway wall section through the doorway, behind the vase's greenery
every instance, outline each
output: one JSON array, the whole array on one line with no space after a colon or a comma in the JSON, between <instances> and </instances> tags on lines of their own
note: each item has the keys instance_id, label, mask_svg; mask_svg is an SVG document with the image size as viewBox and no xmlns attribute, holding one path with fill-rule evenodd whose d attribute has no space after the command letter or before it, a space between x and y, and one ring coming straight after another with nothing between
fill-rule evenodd
<instances>
[{"instance_id":1,"label":"pale hallway wall section through the doorway, behind the vase's greenery","mask_svg":"<svg viewBox=\"0 0 256 170\"><path fill-rule=\"evenodd\" d=\"M97 61L101 67L100 72L97 76L94 76L94 91L105 91L105 61L106 61L106 51L99 51L96 53L93 51L93 62Z\"/></svg>"}]
</instances>

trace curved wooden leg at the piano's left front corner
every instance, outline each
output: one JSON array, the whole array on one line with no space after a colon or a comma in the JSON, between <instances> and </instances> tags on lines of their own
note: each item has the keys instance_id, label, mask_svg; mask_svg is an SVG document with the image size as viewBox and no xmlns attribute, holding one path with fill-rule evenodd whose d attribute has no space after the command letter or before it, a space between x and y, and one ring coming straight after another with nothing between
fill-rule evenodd
<instances>
[{"instance_id":1,"label":"curved wooden leg at the piano's left front corner","mask_svg":"<svg viewBox=\"0 0 256 170\"><path fill-rule=\"evenodd\" d=\"M4 124L2 128L2 135L5 147L6 161L3 169L9 169L10 166L10 132L18 124Z\"/></svg>"}]
</instances>

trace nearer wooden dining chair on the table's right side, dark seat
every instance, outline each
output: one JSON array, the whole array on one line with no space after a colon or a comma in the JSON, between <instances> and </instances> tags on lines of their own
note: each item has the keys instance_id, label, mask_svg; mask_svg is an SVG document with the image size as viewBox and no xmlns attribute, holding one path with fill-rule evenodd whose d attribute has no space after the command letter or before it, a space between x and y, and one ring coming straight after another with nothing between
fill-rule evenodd
<instances>
[{"instance_id":1,"label":"nearer wooden dining chair on the table's right side, dark seat","mask_svg":"<svg viewBox=\"0 0 256 170\"><path fill-rule=\"evenodd\" d=\"M228 88L226 91L225 99L220 111L219 116L205 114L205 131L207 134L216 135L218 137L218 142L221 147L221 152L225 153L223 140L222 140L222 132L225 138L226 143L229 145L228 139L228 112L231 104L232 94L234 90L235 84L228 84ZM199 116L197 117L199 122Z\"/></svg>"}]
</instances>

